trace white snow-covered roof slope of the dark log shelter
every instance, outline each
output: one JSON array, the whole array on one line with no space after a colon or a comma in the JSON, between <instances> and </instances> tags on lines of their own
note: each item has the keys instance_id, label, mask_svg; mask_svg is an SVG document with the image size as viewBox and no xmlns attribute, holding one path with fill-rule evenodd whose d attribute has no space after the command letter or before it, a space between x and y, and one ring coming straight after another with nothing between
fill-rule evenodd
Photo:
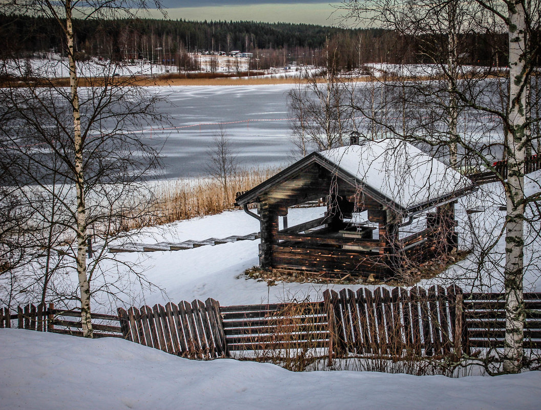
<instances>
[{"instance_id":1,"label":"white snow-covered roof slope of the dark log shelter","mask_svg":"<svg viewBox=\"0 0 541 410\"><path fill-rule=\"evenodd\" d=\"M397 139L366 141L319 155L404 210L473 187L470 179Z\"/></svg>"}]
</instances>

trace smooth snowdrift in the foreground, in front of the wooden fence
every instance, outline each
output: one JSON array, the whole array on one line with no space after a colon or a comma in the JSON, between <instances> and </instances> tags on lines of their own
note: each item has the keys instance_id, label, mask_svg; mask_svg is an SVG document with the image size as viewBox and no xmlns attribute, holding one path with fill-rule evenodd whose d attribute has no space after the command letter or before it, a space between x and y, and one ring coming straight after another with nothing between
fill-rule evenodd
<instances>
[{"instance_id":1,"label":"smooth snowdrift in the foreground, in front of the wooden fence","mask_svg":"<svg viewBox=\"0 0 541 410\"><path fill-rule=\"evenodd\" d=\"M534 409L541 372L417 377L193 361L121 339L0 329L0 408Z\"/></svg>"}]
</instances>

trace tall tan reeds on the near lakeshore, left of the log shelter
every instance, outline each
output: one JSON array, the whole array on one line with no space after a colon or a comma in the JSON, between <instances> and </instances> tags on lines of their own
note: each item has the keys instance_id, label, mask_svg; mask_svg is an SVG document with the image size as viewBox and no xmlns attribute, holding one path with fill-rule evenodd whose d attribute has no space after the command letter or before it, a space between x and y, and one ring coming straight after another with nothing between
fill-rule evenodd
<instances>
[{"instance_id":1,"label":"tall tan reeds on the near lakeshore, left of the log shelter","mask_svg":"<svg viewBox=\"0 0 541 410\"><path fill-rule=\"evenodd\" d=\"M235 194L247 191L272 177L278 167L242 169L228 180L227 192L213 178L179 179L156 184L155 199L144 210L126 218L121 230L164 225L174 221L235 209Z\"/></svg>"}]
</instances>

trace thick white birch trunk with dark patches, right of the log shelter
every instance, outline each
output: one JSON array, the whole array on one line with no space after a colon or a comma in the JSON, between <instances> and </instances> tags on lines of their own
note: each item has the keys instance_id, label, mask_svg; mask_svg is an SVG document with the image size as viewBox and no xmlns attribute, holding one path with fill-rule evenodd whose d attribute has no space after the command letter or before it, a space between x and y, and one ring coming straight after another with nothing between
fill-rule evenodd
<instances>
[{"instance_id":1,"label":"thick white birch trunk with dark patches, right of the log shelter","mask_svg":"<svg viewBox=\"0 0 541 410\"><path fill-rule=\"evenodd\" d=\"M505 343L503 369L518 373L524 338L524 153L526 125L525 17L520 0L509 3L509 177L506 184Z\"/></svg>"}]
</instances>

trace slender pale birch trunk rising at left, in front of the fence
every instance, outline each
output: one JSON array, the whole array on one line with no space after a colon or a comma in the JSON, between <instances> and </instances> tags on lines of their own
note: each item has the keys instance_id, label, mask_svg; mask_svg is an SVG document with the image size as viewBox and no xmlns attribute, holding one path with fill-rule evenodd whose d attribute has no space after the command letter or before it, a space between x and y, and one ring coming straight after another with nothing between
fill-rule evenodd
<instances>
[{"instance_id":1,"label":"slender pale birch trunk rising at left, in front of the fence","mask_svg":"<svg viewBox=\"0 0 541 410\"><path fill-rule=\"evenodd\" d=\"M65 3L66 37L68 45L69 78L73 115L74 152L75 152L75 191L77 200L77 276L81 293L81 325L83 336L93 337L90 320L90 284L87 277L87 215L84 197L83 175L83 140L81 136L81 114L77 92L77 66L75 64L74 31L71 15L71 0Z\"/></svg>"}]
</instances>

